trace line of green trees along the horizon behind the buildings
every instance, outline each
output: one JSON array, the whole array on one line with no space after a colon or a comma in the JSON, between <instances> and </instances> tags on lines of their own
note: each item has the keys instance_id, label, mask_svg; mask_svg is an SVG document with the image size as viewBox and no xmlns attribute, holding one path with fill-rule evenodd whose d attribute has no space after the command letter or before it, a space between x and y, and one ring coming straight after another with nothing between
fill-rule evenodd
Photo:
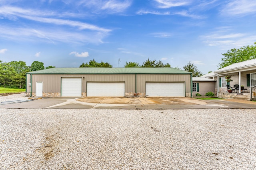
<instances>
[{"instance_id":1,"label":"line of green trees along the horizon behind the buildings","mask_svg":"<svg viewBox=\"0 0 256 170\"><path fill-rule=\"evenodd\" d=\"M218 64L218 69L228 65L239 63L246 60L256 59L256 43L251 46L244 46L239 49L228 50L227 53L222 54L224 58L221 59L222 63ZM44 63L34 61L31 66L27 66L24 61L11 61L3 62L0 60L0 86L10 88L25 88L26 87L26 72L37 71L55 66L44 67ZM96 62L94 59L82 63L80 67L113 67L110 63ZM164 64L162 61L147 59L140 65L137 62L126 62L124 67L171 67L169 63ZM182 70L181 68L175 67ZM194 77L202 76L202 72L191 62L183 66L183 70L192 72ZM208 72L209 73L209 72Z\"/></svg>"}]
</instances>

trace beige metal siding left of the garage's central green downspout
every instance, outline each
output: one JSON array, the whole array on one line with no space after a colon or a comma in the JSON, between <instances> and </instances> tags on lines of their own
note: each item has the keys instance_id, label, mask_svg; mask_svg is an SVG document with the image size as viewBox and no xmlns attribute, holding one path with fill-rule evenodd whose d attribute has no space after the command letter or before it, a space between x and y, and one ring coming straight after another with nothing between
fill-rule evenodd
<instances>
[{"instance_id":1,"label":"beige metal siding left of the garage's central green downspout","mask_svg":"<svg viewBox=\"0 0 256 170\"><path fill-rule=\"evenodd\" d=\"M86 82L125 82L125 91L135 92L135 74L33 74L32 92L35 92L36 82L44 82L44 93L60 93L62 77L81 77L82 92L86 92ZM27 87L30 92L30 86Z\"/></svg>"}]
</instances>

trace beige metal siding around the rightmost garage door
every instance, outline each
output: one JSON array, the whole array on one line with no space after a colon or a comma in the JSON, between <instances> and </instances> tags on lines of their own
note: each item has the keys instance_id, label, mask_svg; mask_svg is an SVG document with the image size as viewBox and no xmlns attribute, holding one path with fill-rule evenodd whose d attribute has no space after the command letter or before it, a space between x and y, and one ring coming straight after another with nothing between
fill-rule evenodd
<instances>
[{"instance_id":1,"label":"beige metal siding around the rightmost garage door","mask_svg":"<svg viewBox=\"0 0 256 170\"><path fill-rule=\"evenodd\" d=\"M137 74L137 92L146 92L146 82L185 82L185 92L190 93L190 74Z\"/></svg>"}]
</instances>

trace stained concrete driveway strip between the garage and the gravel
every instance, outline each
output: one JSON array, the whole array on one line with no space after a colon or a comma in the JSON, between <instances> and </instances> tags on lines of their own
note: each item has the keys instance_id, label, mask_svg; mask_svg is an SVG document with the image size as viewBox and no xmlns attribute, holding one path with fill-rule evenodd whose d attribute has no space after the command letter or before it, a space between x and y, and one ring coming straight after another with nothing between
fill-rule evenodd
<instances>
[{"instance_id":1,"label":"stained concrete driveway strip between the garage and the gravel","mask_svg":"<svg viewBox=\"0 0 256 170\"><path fill-rule=\"evenodd\" d=\"M125 97L58 97L1 105L0 108L66 108L66 109L209 109L256 108L256 102L245 100L200 100L195 98L125 98Z\"/></svg>"}]
</instances>

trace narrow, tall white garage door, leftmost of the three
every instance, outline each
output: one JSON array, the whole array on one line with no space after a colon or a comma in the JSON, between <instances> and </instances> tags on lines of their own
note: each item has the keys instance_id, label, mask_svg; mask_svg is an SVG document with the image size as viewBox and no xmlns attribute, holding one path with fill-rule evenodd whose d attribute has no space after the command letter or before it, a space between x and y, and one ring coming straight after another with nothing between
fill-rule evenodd
<instances>
[{"instance_id":1,"label":"narrow, tall white garage door, leftmost of the three","mask_svg":"<svg viewBox=\"0 0 256 170\"><path fill-rule=\"evenodd\" d=\"M82 78L62 78L61 96L64 96L64 97L82 96Z\"/></svg>"}]
</instances>

